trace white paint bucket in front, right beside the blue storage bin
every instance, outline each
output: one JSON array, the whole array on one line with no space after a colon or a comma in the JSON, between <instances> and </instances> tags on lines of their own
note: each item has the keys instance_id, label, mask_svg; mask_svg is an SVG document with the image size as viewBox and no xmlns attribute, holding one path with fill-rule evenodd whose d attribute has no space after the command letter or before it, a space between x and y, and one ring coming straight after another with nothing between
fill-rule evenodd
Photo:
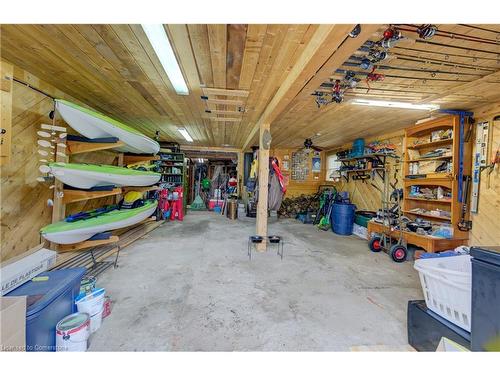
<instances>
[{"instance_id":1,"label":"white paint bucket in front, right beside the blue storage bin","mask_svg":"<svg viewBox=\"0 0 500 375\"><path fill-rule=\"evenodd\" d=\"M68 315L56 325L56 351L85 352L89 335L89 314L75 313Z\"/></svg>"}]
</instances>

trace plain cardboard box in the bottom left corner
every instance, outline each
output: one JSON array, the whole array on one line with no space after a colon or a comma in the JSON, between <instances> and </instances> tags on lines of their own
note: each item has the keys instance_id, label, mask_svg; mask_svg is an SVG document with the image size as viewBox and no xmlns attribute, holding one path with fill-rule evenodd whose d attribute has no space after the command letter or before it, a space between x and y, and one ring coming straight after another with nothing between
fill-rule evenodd
<instances>
[{"instance_id":1,"label":"plain cardboard box in the bottom left corner","mask_svg":"<svg viewBox=\"0 0 500 375\"><path fill-rule=\"evenodd\" d=\"M0 351L26 351L26 296L0 297Z\"/></svg>"}]
</instances>

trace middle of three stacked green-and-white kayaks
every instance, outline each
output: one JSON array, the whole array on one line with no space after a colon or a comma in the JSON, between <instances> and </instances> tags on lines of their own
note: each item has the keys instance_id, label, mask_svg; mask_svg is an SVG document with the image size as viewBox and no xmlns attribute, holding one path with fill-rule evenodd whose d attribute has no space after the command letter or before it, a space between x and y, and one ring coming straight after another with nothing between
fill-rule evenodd
<instances>
[{"instance_id":1,"label":"middle of three stacked green-and-white kayaks","mask_svg":"<svg viewBox=\"0 0 500 375\"><path fill-rule=\"evenodd\" d=\"M77 189L97 186L150 186L160 181L161 174L113 165L49 163L50 173L62 183Z\"/></svg>"}]
</instances>

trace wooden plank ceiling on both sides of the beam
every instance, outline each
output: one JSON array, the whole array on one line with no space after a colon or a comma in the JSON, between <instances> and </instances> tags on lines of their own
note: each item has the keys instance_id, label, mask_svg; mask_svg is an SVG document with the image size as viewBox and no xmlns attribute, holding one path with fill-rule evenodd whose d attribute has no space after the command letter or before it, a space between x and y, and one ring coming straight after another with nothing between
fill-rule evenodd
<instances>
[{"instance_id":1,"label":"wooden plank ceiling on both sides of the beam","mask_svg":"<svg viewBox=\"0 0 500 375\"><path fill-rule=\"evenodd\" d=\"M362 25L364 40L348 38L304 84L271 126L273 147L298 147L304 138L333 147L357 136L405 127L426 113L355 106L352 98L435 102L472 108L500 100L499 25L437 25L439 30L494 43L404 32L391 58L377 64L385 75L370 83L359 61L366 39L384 26ZM163 71L140 25L2 25L1 56L76 100L129 123L149 136L184 144L242 147L287 74L313 43L317 25L166 25L190 94L180 96ZM413 35L415 34L415 35ZM496 41L496 42L495 42ZM315 91L331 90L352 70L361 80L341 104L318 108ZM204 96L207 100L202 100ZM316 134L319 133L320 135ZM251 138L251 137L250 137ZM253 142L253 140L251 139ZM250 143L252 143L250 142Z\"/></svg>"}]
</instances>

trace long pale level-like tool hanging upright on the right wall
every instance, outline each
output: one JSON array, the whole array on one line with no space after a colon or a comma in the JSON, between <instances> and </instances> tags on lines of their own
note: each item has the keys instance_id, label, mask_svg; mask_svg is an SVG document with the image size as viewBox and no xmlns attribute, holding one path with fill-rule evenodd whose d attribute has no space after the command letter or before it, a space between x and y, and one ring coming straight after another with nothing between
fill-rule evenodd
<instances>
[{"instance_id":1,"label":"long pale level-like tool hanging upright on the right wall","mask_svg":"<svg viewBox=\"0 0 500 375\"><path fill-rule=\"evenodd\" d=\"M480 122L476 125L476 150L474 153L472 174L472 196L470 212L477 213L479 209L479 187L481 182L481 171L488 164L488 133L489 123Z\"/></svg>"}]
</instances>

